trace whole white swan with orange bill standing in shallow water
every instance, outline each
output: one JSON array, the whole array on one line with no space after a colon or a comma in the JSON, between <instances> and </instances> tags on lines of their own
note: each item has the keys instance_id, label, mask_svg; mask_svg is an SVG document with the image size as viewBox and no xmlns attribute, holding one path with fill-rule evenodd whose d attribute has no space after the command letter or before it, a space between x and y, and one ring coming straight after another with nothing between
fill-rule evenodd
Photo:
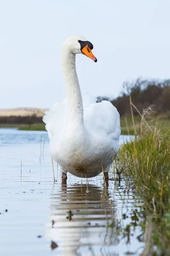
<instances>
[{"instance_id":1,"label":"whole white swan with orange bill standing in shallow water","mask_svg":"<svg viewBox=\"0 0 170 256\"><path fill-rule=\"evenodd\" d=\"M77 177L94 177L108 172L119 149L120 116L108 101L96 103L86 95L82 100L76 73L76 54L97 61L93 44L82 36L71 36L62 46L62 70L66 100L45 112L43 121L50 139L50 153L60 165L62 180L67 172Z\"/></svg>"}]
</instances>

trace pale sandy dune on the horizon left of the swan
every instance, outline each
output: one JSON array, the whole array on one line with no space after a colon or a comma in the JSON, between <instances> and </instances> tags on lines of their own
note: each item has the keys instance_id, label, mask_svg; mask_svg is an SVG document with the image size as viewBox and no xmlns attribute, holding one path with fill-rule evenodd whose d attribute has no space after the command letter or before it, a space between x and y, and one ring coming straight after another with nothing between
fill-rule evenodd
<instances>
[{"instance_id":1,"label":"pale sandy dune on the horizon left of the swan","mask_svg":"<svg viewBox=\"0 0 170 256\"><path fill-rule=\"evenodd\" d=\"M0 116L37 116L41 117L44 112L48 110L45 108L6 108L0 109Z\"/></svg>"}]
</instances>

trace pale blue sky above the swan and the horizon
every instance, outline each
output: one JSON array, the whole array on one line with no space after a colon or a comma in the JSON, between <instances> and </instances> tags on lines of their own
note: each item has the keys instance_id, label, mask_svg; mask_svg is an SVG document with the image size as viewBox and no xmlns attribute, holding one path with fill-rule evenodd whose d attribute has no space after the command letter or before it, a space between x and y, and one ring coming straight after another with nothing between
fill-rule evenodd
<instances>
[{"instance_id":1,"label":"pale blue sky above the swan and the horizon","mask_svg":"<svg viewBox=\"0 0 170 256\"><path fill-rule=\"evenodd\" d=\"M169 0L0 0L0 108L49 108L65 98L62 42L82 35L82 94L116 97L123 81L170 78Z\"/></svg>"}]
</instances>

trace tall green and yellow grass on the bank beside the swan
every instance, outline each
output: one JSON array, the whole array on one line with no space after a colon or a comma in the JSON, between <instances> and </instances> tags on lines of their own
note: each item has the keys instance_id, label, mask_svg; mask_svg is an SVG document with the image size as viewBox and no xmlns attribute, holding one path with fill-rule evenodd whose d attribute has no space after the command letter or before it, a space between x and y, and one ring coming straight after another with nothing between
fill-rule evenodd
<instances>
[{"instance_id":1,"label":"tall green and yellow grass on the bank beside the swan","mask_svg":"<svg viewBox=\"0 0 170 256\"><path fill-rule=\"evenodd\" d=\"M126 125L126 129L137 134L135 140L121 146L118 158L143 201L142 256L163 256L170 255L170 120L148 122L148 113L135 118L134 125L127 120L130 127Z\"/></svg>"}]
</instances>

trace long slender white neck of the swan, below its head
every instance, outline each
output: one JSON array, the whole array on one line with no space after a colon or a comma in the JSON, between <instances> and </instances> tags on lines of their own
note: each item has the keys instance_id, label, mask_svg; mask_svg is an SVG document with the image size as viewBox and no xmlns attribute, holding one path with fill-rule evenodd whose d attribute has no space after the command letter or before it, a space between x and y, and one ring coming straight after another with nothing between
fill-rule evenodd
<instances>
[{"instance_id":1,"label":"long slender white neck of the swan, below its head","mask_svg":"<svg viewBox=\"0 0 170 256\"><path fill-rule=\"evenodd\" d=\"M76 55L68 49L62 49L62 70L67 95L67 122L83 124L83 104L76 73Z\"/></svg>"}]
</instances>

